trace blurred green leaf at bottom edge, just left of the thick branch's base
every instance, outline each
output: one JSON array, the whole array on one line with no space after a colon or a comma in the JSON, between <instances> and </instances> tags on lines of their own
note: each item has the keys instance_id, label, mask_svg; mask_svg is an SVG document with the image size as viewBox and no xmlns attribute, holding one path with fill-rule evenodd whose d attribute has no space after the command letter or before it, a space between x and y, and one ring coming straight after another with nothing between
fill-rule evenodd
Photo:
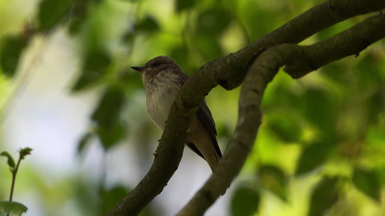
<instances>
[{"instance_id":1,"label":"blurred green leaf at bottom edge, just left of the thick branch's base","mask_svg":"<svg viewBox=\"0 0 385 216\"><path fill-rule=\"evenodd\" d=\"M111 209L115 207L117 203L123 200L123 198L127 194L127 189L123 186L117 186L115 188L110 189L109 191L100 191L100 201L102 203L102 215L105 215Z\"/></svg>"}]
</instances>

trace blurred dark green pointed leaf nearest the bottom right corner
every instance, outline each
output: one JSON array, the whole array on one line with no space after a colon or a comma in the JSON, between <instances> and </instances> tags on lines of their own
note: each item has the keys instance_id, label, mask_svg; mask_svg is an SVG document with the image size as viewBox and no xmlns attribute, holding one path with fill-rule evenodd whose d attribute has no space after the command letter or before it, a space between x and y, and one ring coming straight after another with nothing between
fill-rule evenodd
<instances>
[{"instance_id":1,"label":"blurred dark green pointed leaf nearest the bottom right corner","mask_svg":"<svg viewBox=\"0 0 385 216\"><path fill-rule=\"evenodd\" d=\"M353 183L364 194L378 202L380 201L381 186L378 175L374 170L366 170L358 166L355 167Z\"/></svg>"}]
</instances>

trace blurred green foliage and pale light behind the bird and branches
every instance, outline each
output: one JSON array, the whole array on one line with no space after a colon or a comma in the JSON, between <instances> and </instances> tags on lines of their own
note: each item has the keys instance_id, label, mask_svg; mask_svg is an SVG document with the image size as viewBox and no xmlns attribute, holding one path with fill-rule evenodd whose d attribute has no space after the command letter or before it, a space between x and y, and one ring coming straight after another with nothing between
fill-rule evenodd
<instances>
[{"instance_id":1,"label":"blurred green foliage and pale light behind the bird and branches","mask_svg":"<svg viewBox=\"0 0 385 216\"><path fill-rule=\"evenodd\" d=\"M321 2L0 0L0 151L33 148L14 201L30 216L104 215L147 173L161 137L130 66L168 55L191 75ZM222 151L238 95L217 87L206 97ZM262 108L251 155L206 215L385 215L385 40L299 80L280 71ZM141 216L175 214L210 174L186 149ZM0 200L11 178L1 157Z\"/></svg>"}]
</instances>

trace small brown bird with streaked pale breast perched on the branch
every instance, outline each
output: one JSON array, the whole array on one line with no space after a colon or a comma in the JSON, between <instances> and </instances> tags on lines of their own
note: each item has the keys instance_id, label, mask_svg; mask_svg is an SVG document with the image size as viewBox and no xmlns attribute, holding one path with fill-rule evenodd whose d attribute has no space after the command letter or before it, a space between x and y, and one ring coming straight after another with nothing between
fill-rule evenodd
<instances>
[{"instance_id":1,"label":"small brown bird with streaked pale breast perched on the branch","mask_svg":"<svg viewBox=\"0 0 385 216\"><path fill-rule=\"evenodd\" d=\"M147 61L144 66L131 68L141 72L142 83L146 89L147 112L152 122L164 130L171 105L189 75L168 56L157 56ZM203 99L192 118L185 145L206 160L212 172L222 159L216 135L213 116L206 99Z\"/></svg>"}]
</instances>

